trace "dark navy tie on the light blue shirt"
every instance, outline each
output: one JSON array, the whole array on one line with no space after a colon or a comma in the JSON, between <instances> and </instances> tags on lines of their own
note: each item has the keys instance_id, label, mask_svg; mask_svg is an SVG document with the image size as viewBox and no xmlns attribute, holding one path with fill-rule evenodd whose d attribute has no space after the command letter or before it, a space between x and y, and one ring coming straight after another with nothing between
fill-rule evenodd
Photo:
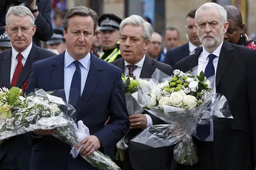
<instances>
[{"instance_id":1,"label":"dark navy tie on the light blue shirt","mask_svg":"<svg viewBox=\"0 0 256 170\"><path fill-rule=\"evenodd\" d=\"M81 96L81 69L79 67L79 61L74 61L73 63L76 68L70 86L69 104L75 107L78 99Z\"/></svg>"}]
</instances>

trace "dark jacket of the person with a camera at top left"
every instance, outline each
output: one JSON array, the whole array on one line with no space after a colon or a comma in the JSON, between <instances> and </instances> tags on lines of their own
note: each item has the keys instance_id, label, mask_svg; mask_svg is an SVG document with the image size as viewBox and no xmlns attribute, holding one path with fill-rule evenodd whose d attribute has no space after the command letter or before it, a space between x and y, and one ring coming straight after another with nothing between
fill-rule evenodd
<instances>
[{"instance_id":1,"label":"dark jacket of the person with a camera at top left","mask_svg":"<svg viewBox=\"0 0 256 170\"><path fill-rule=\"evenodd\" d=\"M51 21L52 1L40 0L37 3L39 15L35 19L37 30L33 36L33 43L41 47L41 41L48 41L53 35L53 26Z\"/></svg>"}]
</instances>

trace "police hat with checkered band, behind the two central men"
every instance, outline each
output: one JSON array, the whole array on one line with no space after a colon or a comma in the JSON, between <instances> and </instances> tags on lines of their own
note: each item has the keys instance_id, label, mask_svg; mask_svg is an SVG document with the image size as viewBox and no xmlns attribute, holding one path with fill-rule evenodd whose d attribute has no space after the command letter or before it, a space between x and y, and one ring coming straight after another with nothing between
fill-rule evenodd
<instances>
[{"instance_id":1,"label":"police hat with checkered band, behind the two central men","mask_svg":"<svg viewBox=\"0 0 256 170\"><path fill-rule=\"evenodd\" d=\"M119 30L122 19L115 14L103 14L98 22L99 30Z\"/></svg>"}]
</instances>

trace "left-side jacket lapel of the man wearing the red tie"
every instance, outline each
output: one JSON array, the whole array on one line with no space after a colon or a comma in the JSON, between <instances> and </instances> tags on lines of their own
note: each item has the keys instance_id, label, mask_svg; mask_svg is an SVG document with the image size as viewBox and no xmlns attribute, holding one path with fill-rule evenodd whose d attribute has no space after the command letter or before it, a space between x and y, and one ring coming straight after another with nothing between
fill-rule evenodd
<instances>
[{"instance_id":1,"label":"left-side jacket lapel of the man wearing the red tie","mask_svg":"<svg viewBox=\"0 0 256 170\"><path fill-rule=\"evenodd\" d=\"M1 62L3 86L6 88L11 87L11 78L10 78L11 61L12 61L12 50L9 50L9 53L3 57L3 60Z\"/></svg>"}]
</instances>

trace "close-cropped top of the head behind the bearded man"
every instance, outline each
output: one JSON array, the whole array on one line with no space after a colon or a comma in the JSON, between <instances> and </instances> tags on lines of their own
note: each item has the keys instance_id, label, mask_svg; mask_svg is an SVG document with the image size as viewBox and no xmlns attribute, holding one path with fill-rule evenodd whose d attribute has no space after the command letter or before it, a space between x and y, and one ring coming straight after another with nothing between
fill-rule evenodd
<instances>
[{"instance_id":1,"label":"close-cropped top of the head behind the bearded man","mask_svg":"<svg viewBox=\"0 0 256 170\"><path fill-rule=\"evenodd\" d=\"M224 6L224 8L227 11L227 19L233 20L234 22L236 22L238 27L242 27L243 19L240 10L232 5L226 5Z\"/></svg>"}]
</instances>

